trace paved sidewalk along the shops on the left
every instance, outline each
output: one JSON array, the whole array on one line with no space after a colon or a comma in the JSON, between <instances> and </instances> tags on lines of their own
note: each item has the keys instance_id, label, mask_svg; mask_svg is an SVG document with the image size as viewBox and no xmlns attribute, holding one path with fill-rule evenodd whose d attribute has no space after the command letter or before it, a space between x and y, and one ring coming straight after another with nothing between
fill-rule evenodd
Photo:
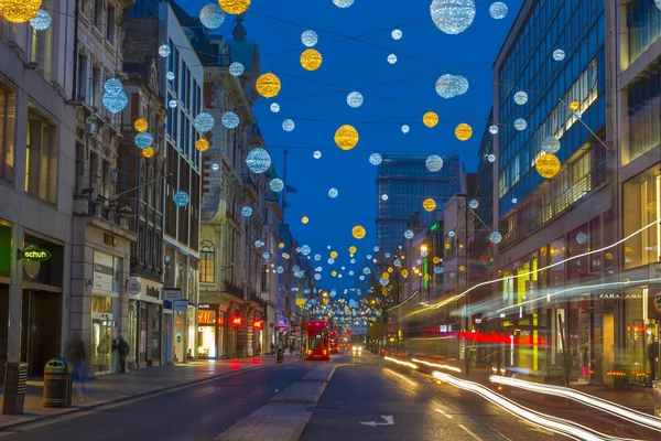
<instances>
[{"instance_id":1,"label":"paved sidewalk along the shops on the left","mask_svg":"<svg viewBox=\"0 0 661 441\"><path fill-rule=\"evenodd\" d=\"M301 358L293 355L288 354L284 356L284 364L293 364L300 361ZM43 380L29 379L24 413L17 416L0 415L0 430L9 426L23 424L43 418L201 383L236 372L272 365L275 365L275 356L263 355L254 358L204 361L173 366L150 367L131 370L126 375L100 375L87 381L87 399L82 400L74 394L73 406L64 409L44 408L42 406ZM0 406L3 394L4 387L0 385Z\"/></svg>"}]
</instances>

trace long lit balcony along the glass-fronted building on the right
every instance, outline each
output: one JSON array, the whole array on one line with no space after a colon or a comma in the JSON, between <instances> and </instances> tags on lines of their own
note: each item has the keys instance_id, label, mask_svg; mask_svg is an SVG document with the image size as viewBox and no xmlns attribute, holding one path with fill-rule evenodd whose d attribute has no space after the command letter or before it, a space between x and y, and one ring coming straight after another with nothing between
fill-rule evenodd
<instances>
[{"instance_id":1,"label":"long lit balcony along the glass-fronted building on the right","mask_svg":"<svg viewBox=\"0 0 661 441\"><path fill-rule=\"evenodd\" d=\"M529 237L532 233L572 208L574 204L582 201L585 196L602 187L607 181L608 173L606 170L606 162L602 162L585 176L581 178L581 180L572 185L565 193L551 201L521 224L517 225L511 232L503 233L499 249L505 250Z\"/></svg>"}]
</instances>

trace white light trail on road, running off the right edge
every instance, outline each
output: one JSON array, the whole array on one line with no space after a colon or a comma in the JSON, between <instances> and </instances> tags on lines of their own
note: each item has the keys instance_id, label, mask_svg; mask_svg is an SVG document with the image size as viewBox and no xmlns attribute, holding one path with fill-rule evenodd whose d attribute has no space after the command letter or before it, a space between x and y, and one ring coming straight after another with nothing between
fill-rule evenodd
<instances>
[{"instance_id":1,"label":"white light trail on road, running off the right edge","mask_svg":"<svg viewBox=\"0 0 661 441\"><path fill-rule=\"evenodd\" d=\"M539 383L525 381L517 378L501 377L497 375L491 375L489 377L489 380L491 383L497 383L509 387L518 387L533 392L570 398L592 408L603 410L610 415L615 415L619 418L624 418L629 422L633 422L655 431L661 431L661 418L652 417L650 415L639 412L638 410L633 410L628 407L620 406L613 401L608 401L603 398L598 398L578 390L570 389L563 386L542 385Z\"/></svg>"}]
</instances>

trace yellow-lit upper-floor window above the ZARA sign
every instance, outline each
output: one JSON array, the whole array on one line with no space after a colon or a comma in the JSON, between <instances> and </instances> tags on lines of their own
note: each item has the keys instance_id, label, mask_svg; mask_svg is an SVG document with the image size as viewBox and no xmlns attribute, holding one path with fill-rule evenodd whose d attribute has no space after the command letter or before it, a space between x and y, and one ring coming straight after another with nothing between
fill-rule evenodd
<instances>
[{"instance_id":1,"label":"yellow-lit upper-floor window above the ZARA sign","mask_svg":"<svg viewBox=\"0 0 661 441\"><path fill-rule=\"evenodd\" d=\"M659 165L625 182L622 215L625 237L633 235L625 241L625 269L659 261L659 238L661 237ZM644 228L653 223L657 224Z\"/></svg>"}]
</instances>

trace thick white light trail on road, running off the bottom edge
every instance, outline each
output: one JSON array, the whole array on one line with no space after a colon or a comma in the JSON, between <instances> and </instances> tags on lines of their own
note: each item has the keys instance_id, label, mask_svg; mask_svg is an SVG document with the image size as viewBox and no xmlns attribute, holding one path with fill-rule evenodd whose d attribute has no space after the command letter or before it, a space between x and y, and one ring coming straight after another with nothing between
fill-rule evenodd
<instances>
[{"instance_id":1,"label":"thick white light trail on road, running off the bottom edge","mask_svg":"<svg viewBox=\"0 0 661 441\"><path fill-rule=\"evenodd\" d=\"M440 372L433 372L432 376L444 383L448 383L459 389L469 390L475 392L488 401L495 404L512 416L524 420L531 426L535 426L540 429L550 430L552 432L563 434L574 440L581 441L621 441L629 440L625 438L610 437L605 433L597 432L596 430L589 429L577 422L567 421L562 418L544 415L535 410L528 409L517 402L502 397L499 394L494 392L488 387L485 387L478 383L467 381L453 377L449 374L443 374Z\"/></svg>"}]
</instances>

